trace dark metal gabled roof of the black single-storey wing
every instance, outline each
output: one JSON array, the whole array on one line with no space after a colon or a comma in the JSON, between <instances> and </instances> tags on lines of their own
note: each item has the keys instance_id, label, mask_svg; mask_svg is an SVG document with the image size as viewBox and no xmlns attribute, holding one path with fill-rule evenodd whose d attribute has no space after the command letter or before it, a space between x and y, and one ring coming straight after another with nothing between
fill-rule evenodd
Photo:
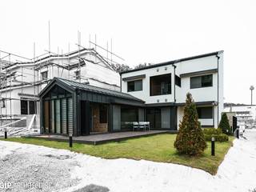
<instances>
[{"instance_id":1,"label":"dark metal gabled roof of the black single-storey wing","mask_svg":"<svg viewBox=\"0 0 256 192\"><path fill-rule=\"evenodd\" d=\"M135 98L130 94L122 93L116 90L107 90L98 86L90 86L88 84L84 84L81 82L74 82L64 78L53 78L51 82L40 92L39 96L41 96L50 86L52 86L54 82L60 83L62 86L66 86L69 90L73 90L73 91L85 90L85 91L90 91L96 94L105 94L105 95L110 95L117 98L126 98L126 99L134 100L137 102L144 102L141 99Z\"/></svg>"}]
</instances>

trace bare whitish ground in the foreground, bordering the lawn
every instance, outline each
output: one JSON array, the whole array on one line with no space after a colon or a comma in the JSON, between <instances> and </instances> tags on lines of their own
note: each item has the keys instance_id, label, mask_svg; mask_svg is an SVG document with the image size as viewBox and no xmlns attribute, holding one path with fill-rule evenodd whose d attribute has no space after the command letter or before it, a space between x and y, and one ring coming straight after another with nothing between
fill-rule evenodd
<instances>
[{"instance_id":1,"label":"bare whitish ground in the foreground, bordering the lawn","mask_svg":"<svg viewBox=\"0 0 256 192\"><path fill-rule=\"evenodd\" d=\"M52 182L46 191L66 192L83 191L79 189L90 184L113 192L250 191L256 189L256 130L246 130L244 135L247 139L234 141L215 176L172 163L108 160L1 141L0 182Z\"/></svg>"}]
</instances>

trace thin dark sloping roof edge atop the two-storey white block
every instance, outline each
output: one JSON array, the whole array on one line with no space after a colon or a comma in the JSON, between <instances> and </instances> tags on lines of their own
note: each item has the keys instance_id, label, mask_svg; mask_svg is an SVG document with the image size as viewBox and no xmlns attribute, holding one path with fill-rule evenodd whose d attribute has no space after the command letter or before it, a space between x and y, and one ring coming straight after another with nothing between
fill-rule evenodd
<instances>
[{"instance_id":1,"label":"thin dark sloping roof edge atop the two-storey white block","mask_svg":"<svg viewBox=\"0 0 256 192\"><path fill-rule=\"evenodd\" d=\"M119 74L126 74L126 73L134 72L134 71L137 71L137 70L146 70L146 69L150 69L150 68L154 68L154 67L158 67L158 66L174 65L177 62L184 62L184 61L192 60L192 59L195 59L195 58L205 58L205 57L209 57L209 56L212 56L212 55L217 55L217 54L220 54L220 53L223 53L223 50L215 51L215 52L212 52L212 53L209 53L209 54L199 54L199 55L188 57L188 58L180 58L180 59L176 59L176 60L173 60L173 61L170 61L170 62L161 62L161 63L158 63L158 64L145 66L145 67L134 69L134 70L126 70L126 71L120 72Z\"/></svg>"}]
</instances>

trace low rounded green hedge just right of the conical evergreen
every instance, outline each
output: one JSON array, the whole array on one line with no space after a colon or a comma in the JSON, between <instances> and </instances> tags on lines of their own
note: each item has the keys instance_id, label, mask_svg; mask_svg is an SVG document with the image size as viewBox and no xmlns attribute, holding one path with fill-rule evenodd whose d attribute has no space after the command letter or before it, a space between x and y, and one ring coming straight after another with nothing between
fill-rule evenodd
<instances>
[{"instance_id":1,"label":"low rounded green hedge just right of the conical evergreen","mask_svg":"<svg viewBox=\"0 0 256 192\"><path fill-rule=\"evenodd\" d=\"M203 134L205 136L206 141L211 141L212 137L215 138L216 142L229 141L229 137L226 134L222 134L222 130L220 128L205 128L203 129Z\"/></svg>"}]
</instances>

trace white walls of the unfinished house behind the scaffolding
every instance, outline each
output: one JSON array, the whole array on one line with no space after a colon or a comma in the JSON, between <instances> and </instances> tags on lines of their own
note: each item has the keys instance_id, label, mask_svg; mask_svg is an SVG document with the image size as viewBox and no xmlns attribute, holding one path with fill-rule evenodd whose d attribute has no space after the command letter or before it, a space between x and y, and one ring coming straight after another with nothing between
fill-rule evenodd
<instances>
[{"instance_id":1,"label":"white walls of the unfinished house behind the scaffolding","mask_svg":"<svg viewBox=\"0 0 256 192\"><path fill-rule=\"evenodd\" d=\"M93 49L51 55L37 58L35 62L20 62L6 66L0 66L0 72L2 72L0 118L22 116L21 100L38 101L38 94L54 77L85 82L110 90L120 90L118 73ZM43 78L42 75L46 77ZM38 114L39 103L36 103ZM27 105L28 114L30 114L29 102Z\"/></svg>"}]
</instances>

